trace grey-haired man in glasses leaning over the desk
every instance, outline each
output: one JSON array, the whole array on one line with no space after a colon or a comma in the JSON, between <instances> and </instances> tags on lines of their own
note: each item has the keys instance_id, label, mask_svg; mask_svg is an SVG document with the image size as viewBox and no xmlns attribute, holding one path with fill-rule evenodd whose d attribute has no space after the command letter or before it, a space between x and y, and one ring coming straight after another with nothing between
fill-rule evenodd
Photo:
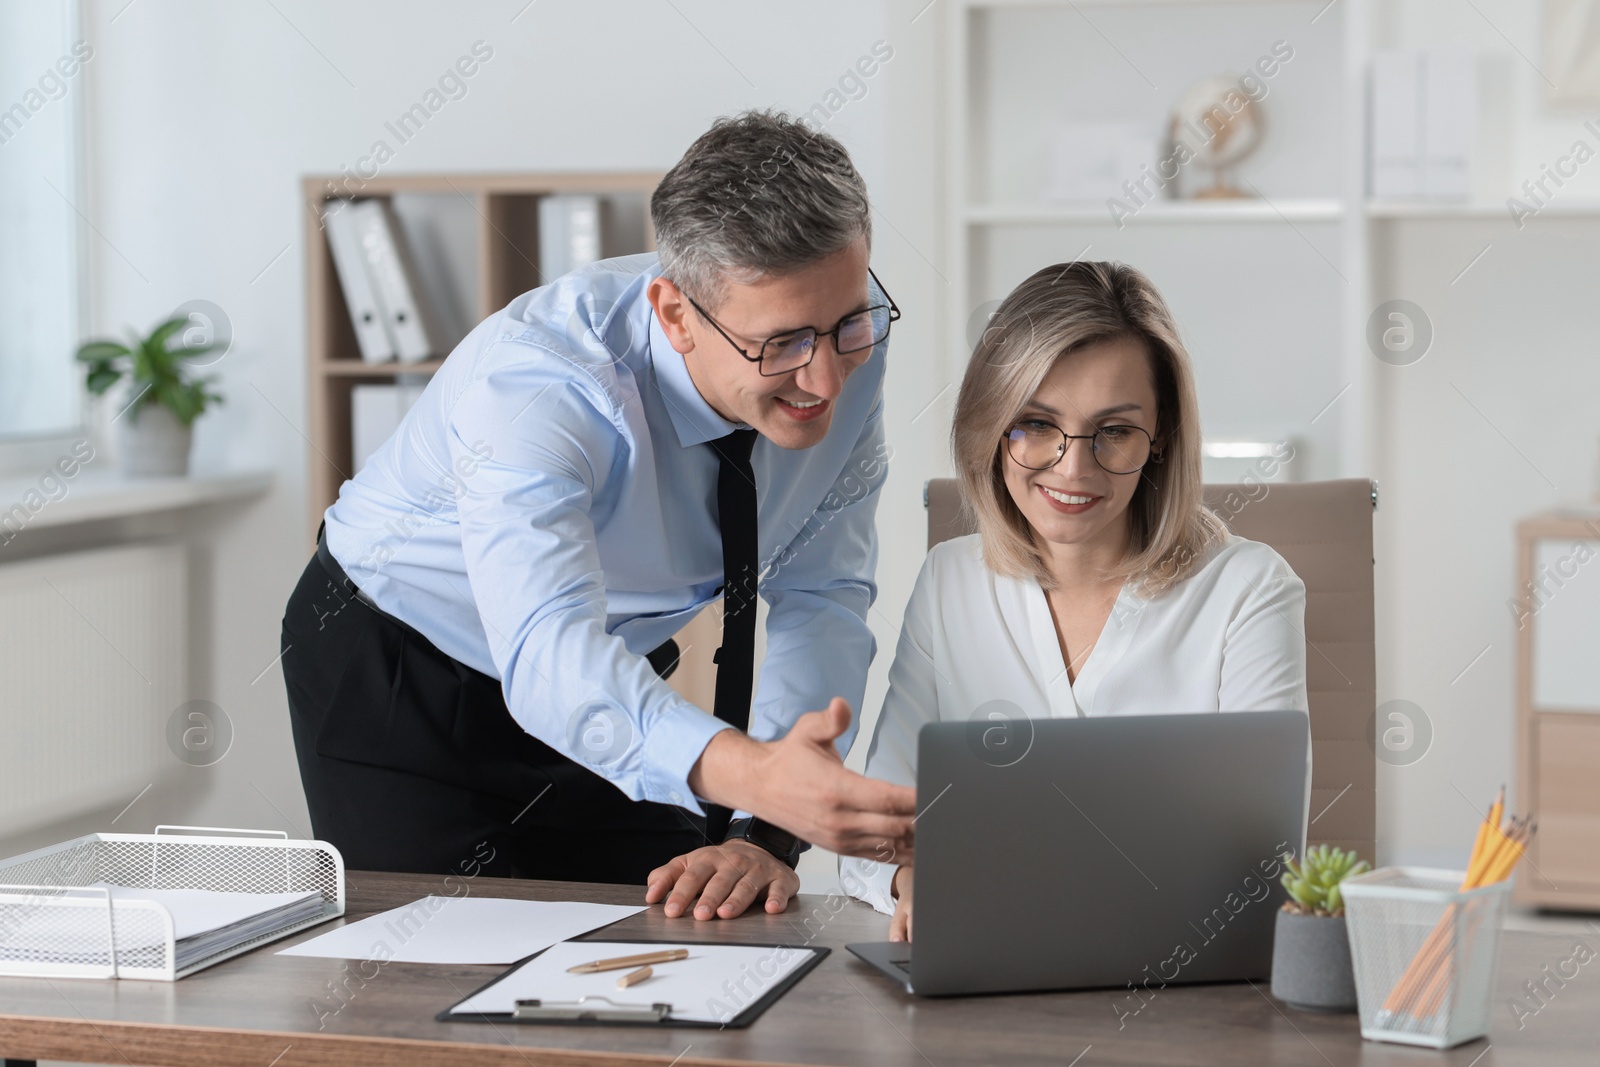
<instances>
[{"instance_id":1,"label":"grey-haired man in glasses leaning over the desk","mask_svg":"<svg viewBox=\"0 0 1600 1067\"><path fill-rule=\"evenodd\" d=\"M651 219L659 258L480 323L325 515L283 673L314 829L354 869L648 881L667 915L731 918L784 910L806 841L910 848L912 790L842 763L899 315L866 186L834 138L752 112ZM662 677L718 593L714 717Z\"/></svg>"}]
</instances>

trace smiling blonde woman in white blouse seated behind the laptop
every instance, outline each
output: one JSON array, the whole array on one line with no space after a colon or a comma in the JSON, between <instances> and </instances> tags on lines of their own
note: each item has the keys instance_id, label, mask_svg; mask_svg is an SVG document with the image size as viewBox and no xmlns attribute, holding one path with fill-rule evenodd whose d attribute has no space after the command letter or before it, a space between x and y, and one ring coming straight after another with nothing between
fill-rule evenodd
<instances>
[{"instance_id":1,"label":"smiling blonde woman in white blouse seated behind the laptop","mask_svg":"<svg viewBox=\"0 0 1600 1067\"><path fill-rule=\"evenodd\" d=\"M1070 262L1019 285L950 437L978 533L923 563L869 776L915 785L934 720L1307 710L1306 585L1202 504L1189 355L1147 277ZM840 877L909 941L912 867L882 861Z\"/></svg>"}]
</instances>

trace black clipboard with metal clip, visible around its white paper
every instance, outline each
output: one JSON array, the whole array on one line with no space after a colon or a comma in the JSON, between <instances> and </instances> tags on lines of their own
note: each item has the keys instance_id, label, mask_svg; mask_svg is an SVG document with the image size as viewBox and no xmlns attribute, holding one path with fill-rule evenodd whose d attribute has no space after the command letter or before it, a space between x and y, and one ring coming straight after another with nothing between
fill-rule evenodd
<instances>
[{"instance_id":1,"label":"black clipboard with metal clip, visible around its white paper","mask_svg":"<svg viewBox=\"0 0 1600 1067\"><path fill-rule=\"evenodd\" d=\"M562 942L562 944L581 944L603 947L608 944L651 944L651 945L688 945L693 949L693 942L683 941L659 941L648 937L629 937L629 939L608 939L608 941L579 941L579 942ZM554 949L555 945L552 945ZM702 1019L674 1019L672 1005L651 1001L645 1003L627 1003L626 1000L616 1001L610 997L581 997L579 1000L517 1000L515 1011L512 1013L482 1013L482 1011L456 1011L461 1005L472 1000L483 990L502 982L510 977L530 961L538 960L542 952L536 952L526 960L518 960L510 968L496 974L493 979L472 990L461 1000L458 1000L450 1008L445 1008L437 1016L438 1022L534 1022L534 1024L554 1024L554 1025L590 1025L590 1024L616 1024L616 1025L664 1025L664 1027L691 1027L691 1029L733 1029L739 1030L752 1022L755 1022L763 1011L771 1008L778 1000L787 993L795 982L811 973L818 963L830 952L830 949L818 945L792 945L782 942L741 942L738 945L718 945L702 944L702 947L731 947L731 949L789 949L792 952L806 953L789 974L781 981L762 992L749 1005L739 1009L736 1016L726 1022L707 1022ZM546 949L549 952L549 949ZM643 993L643 990L640 990Z\"/></svg>"}]
</instances>

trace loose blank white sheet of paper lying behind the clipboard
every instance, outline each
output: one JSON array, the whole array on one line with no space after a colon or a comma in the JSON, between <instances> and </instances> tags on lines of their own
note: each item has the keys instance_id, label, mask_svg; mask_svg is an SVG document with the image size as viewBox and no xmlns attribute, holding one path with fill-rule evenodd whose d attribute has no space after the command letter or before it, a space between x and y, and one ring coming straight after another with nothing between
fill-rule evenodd
<instances>
[{"instance_id":1,"label":"loose blank white sheet of paper lying behind the clipboard","mask_svg":"<svg viewBox=\"0 0 1600 1067\"><path fill-rule=\"evenodd\" d=\"M645 907L578 901L426 896L280 949L285 957L398 963L515 963Z\"/></svg>"}]
</instances>

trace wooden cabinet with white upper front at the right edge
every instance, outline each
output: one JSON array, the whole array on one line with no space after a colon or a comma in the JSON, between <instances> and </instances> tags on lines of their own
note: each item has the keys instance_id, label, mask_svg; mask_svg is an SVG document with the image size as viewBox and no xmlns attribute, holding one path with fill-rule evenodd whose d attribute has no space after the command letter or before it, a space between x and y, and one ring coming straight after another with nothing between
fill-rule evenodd
<instances>
[{"instance_id":1,"label":"wooden cabinet with white upper front at the right edge","mask_svg":"<svg viewBox=\"0 0 1600 1067\"><path fill-rule=\"evenodd\" d=\"M1539 832L1525 904L1600 910L1600 514L1517 528L1517 771Z\"/></svg>"}]
</instances>

